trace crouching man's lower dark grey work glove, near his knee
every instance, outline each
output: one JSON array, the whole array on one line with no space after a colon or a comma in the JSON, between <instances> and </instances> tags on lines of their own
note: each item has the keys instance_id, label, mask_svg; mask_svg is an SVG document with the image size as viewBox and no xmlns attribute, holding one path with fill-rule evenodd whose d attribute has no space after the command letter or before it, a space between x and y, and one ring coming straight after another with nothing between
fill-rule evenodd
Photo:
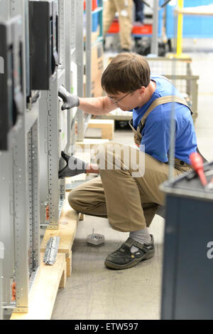
<instances>
[{"instance_id":1,"label":"crouching man's lower dark grey work glove, near his knee","mask_svg":"<svg viewBox=\"0 0 213 334\"><path fill-rule=\"evenodd\" d=\"M86 173L88 162L84 162L77 157L66 155L65 152L61 152L60 171L58 172L58 178L74 177L78 174ZM63 167L65 165L65 167Z\"/></svg>"}]
</instances>

